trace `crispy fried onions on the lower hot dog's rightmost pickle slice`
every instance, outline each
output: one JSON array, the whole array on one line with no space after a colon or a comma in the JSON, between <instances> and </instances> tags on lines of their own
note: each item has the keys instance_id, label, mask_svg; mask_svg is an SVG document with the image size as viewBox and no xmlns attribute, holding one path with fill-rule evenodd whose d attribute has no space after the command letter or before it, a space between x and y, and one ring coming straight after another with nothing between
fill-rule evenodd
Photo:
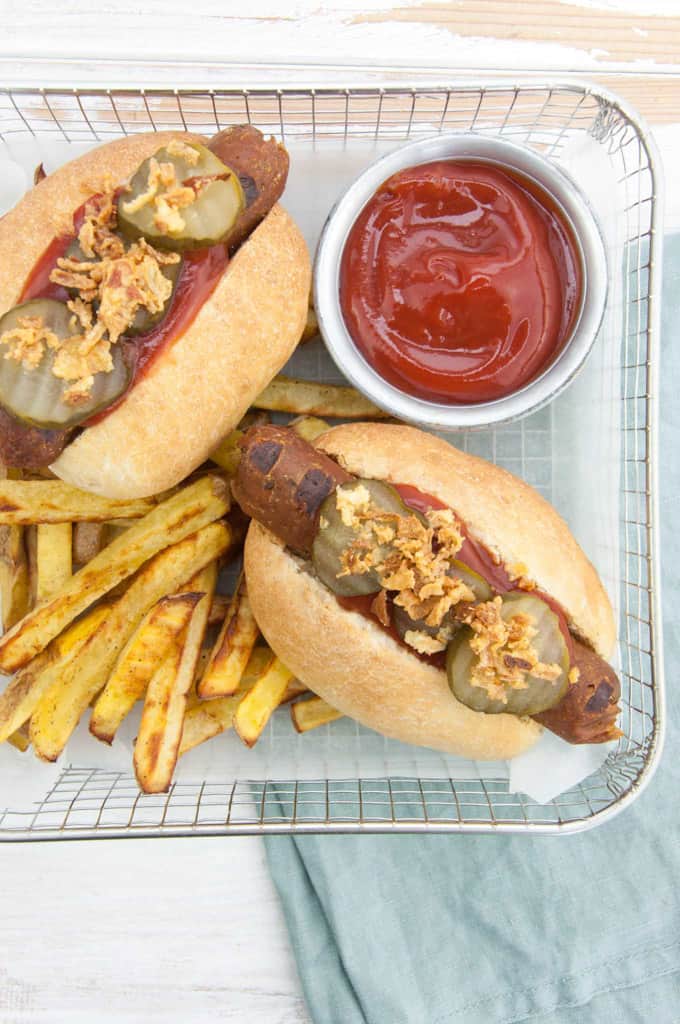
<instances>
[{"instance_id":1,"label":"crispy fried onions on the lower hot dog's rightmost pickle slice","mask_svg":"<svg viewBox=\"0 0 680 1024\"><path fill-rule=\"evenodd\" d=\"M539 658L532 644L538 634L534 616L519 612L504 620L502 605L500 597L475 604L463 621L472 629L470 647L476 654L471 684L481 686L492 699L507 703L508 690L526 689L529 676L553 682L562 670Z\"/></svg>"}]
</instances>

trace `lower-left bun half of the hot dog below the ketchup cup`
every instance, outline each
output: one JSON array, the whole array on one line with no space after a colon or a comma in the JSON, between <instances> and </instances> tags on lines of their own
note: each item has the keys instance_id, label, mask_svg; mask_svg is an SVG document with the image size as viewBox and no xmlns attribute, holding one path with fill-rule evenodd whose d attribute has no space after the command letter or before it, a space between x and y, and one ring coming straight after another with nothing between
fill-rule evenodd
<instances>
[{"instance_id":1,"label":"lower-left bun half of the hot dog below the ketchup cup","mask_svg":"<svg viewBox=\"0 0 680 1024\"><path fill-rule=\"evenodd\" d=\"M476 761L516 757L541 735L532 719L465 708L444 672L342 608L255 522L246 540L246 575L255 618L272 650L314 693L363 725Z\"/></svg>"}]
</instances>

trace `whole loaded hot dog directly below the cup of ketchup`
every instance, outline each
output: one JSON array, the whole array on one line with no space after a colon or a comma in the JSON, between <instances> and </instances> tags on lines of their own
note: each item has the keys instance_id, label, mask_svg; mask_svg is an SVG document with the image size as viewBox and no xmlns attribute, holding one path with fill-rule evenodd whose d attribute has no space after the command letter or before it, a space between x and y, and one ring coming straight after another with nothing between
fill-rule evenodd
<instances>
[{"instance_id":1,"label":"whole loaded hot dog directly below the cup of ketchup","mask_svg":"<svg viewBox=\"0 0 680 1024\"><path fill-rule=\"evenodd\" d=\"M253 428L232 486L254 520L255 616L298 678L380 732L479 760L541 725L572 743L620 735L611 607L551 506L410 427L344 425L317 444ZM312 468L326 496L301 509Z\"/></svg>"}]
</instances>

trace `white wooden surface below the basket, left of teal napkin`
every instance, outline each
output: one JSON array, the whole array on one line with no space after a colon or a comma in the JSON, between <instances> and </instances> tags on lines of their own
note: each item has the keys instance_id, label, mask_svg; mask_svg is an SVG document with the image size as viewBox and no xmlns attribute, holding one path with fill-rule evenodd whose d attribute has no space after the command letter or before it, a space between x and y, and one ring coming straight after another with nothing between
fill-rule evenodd
<instances>
[{"instance_id":1,"label":"white wooden surface below the basket, left of teal napkin","mask_svg":"<svg viewBox=\"0 0 680 1024\"><path fill-rule=\"evenodd\" d=\"M2 1024L310 1024L257 840L0 848Z\"/></svg>"}]
</instances>

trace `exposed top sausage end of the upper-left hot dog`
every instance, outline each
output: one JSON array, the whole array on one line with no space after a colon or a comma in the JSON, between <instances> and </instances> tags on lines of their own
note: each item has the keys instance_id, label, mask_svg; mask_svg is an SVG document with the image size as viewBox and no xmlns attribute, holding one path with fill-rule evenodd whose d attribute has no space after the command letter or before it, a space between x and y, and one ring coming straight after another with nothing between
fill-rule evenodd
<instances>
[{"instance_id":1,"label":"exposed top sausage end of the upper-left hot dog","mask_svg":"<svg viewBox=\"0 0 680 1024\"><path fill-rule=\"evenodd\" d=\"M208 147L239 175L246 209L227 242L235 249L281 199L288 178L289 158L275 139L265 139L252 125L235 125L214 135Z\"/></svg>"}]
</instances>

